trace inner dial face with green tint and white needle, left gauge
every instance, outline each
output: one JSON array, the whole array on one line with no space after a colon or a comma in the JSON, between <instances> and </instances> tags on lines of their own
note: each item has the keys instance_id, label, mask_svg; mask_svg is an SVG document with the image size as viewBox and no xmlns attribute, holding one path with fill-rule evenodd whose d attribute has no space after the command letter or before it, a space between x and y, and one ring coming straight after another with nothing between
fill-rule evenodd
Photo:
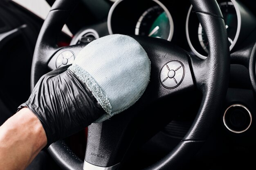
<instances>
[{"instance_id":1,"label":"inner dial face with green tint and white needle, left gauge","mask_svg":"<svg viewBox=\"0 0 256 170\"><path fill-rule=\"evenodd\" d=\"M171 41L173 21L160 6L146 10L136 24L135 35L162 38ZM170 21L171 20L171 21Z\"/></svg>"}]
</instances>

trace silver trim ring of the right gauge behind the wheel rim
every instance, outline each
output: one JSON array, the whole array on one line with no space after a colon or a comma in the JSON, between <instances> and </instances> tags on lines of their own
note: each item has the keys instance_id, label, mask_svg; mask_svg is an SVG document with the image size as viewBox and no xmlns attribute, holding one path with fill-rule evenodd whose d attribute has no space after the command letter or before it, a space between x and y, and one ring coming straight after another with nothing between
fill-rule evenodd
<instances>
[{"instance_id":1,"label":"silver trim ring of the right gauge behind the wheel rim","mask_svg":"<svg viewBox=\"0 0 256 170\"><path fill-rule=\"evenodd\" d=\"M231 51L233 49L233 47L235 46L236 44L236 41L238 40L238 37L239 37L239 34L240 34L240 30L241 30L241 13L240 13L240 10L239 10L239 7L238 7L238 4L236 2L236 0L230 0L235 9L236 9L236 15L237 15L237 30L236 30L236 36L234 38L234 41L233 41L233 44L231 44L231 46L229 47L229 50ZM193 47L191 41L190 41L190 38L189 38L189 16L190 16L190 13L191 13L191 10L192 10L193 6L191 5L190 8L189 8L189 11L188 11L188 14L186 16L186 39L189 43L189 47L191 48L191 50L195 53L195 55L197 55L200 59L207 59L206 56L200 54L197 50L195 50L195 48Z\"/></svg>"}]
</instances>

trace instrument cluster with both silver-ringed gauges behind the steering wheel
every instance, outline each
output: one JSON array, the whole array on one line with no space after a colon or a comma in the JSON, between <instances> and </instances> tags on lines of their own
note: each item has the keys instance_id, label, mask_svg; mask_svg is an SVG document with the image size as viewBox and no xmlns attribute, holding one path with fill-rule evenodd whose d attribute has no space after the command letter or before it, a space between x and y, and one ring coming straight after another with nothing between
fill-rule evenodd
<instances>
[{"instance_id":1,"label":"instrument cluster with both silver-ringed gauges behind the steering wheel","mask_svg":"<svg viewBox=\"0 0 256 170\"><path fill-rule=\"evenodd\" d=\"M227 29L229 49L232 50L253 31L256 18L237 0L217 2ZM192 5L189 7L187 3L189 0L184 0L184 4L181 1L167 0L116 0L108 14L108 31L110 34L166 39L199 58L206 59L209 53L207 36ZM180 7L184 5L182 10L179 10L180 7L175 9L177 4ZM183 15L186 17L182 17ZM184 41L179 44L177 42L180 39ZM188 48L184 44L188 44Z\"/></svg>"}]
</instances>

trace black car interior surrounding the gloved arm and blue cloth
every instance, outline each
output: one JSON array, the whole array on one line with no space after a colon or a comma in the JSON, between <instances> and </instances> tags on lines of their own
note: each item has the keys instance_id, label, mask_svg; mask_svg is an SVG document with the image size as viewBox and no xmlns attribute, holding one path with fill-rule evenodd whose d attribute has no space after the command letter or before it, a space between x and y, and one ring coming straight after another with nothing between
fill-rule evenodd
<instances>
[{"instance_id":1,"label":"black car interior surrounding the gloved arm and blue cloth","mask_svg":"<svg viewBox=\"0 0 256 170\"><path fill-rule=\"evenodd\" d=\"M155 78L148 87L152 94L139 104L112 122L52 144L27 170L254 169L255 0L46 1L52 11L45 23L11 0L0 2L0 125L27 100L40 76L72 64L84 46L106 35L134 37L148 53ZM73 37L60 31L63 24ZM74 58L64 63L59 56L65 52ZM207 59L209 64L200 64ZM160 74L177 60L185 71L169 86L169 75Z\"/></svg>"}]
</instances>

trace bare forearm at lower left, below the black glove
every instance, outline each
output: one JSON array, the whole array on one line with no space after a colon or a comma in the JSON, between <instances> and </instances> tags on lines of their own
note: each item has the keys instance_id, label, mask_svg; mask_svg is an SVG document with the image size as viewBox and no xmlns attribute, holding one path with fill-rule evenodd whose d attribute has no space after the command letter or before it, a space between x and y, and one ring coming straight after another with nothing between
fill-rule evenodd
<instances>
[{"instance_id":1,"label":"bare forearm at lower left, below the black glove","mask_svg":"<svg viewBox=\"0 0 256 170\"><path fill-rule=\"evenodd\" d=\"M0 126L0 170L22 170L47 144L40 120L29 109Z\"/></svg>"}]
</instances>

